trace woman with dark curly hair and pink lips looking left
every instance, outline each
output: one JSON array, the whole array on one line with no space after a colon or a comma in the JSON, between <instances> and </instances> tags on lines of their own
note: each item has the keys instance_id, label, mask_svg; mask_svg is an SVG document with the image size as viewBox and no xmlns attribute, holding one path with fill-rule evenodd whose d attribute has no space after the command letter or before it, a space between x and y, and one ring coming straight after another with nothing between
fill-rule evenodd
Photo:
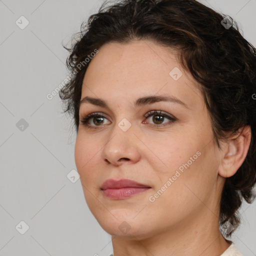
<instances>
[{"instance_id":1,"label":"woman with dark curly hair and pink lips looking left","mask_svg":"<svg viewBox=\"0 0 256 256\"><path fill-rule=\"evenodd\" d=\"M60 91L114 256L241 255L256 181L256 50L195 0L122 0L81 26Z\"/></svg>"}]
</instances>

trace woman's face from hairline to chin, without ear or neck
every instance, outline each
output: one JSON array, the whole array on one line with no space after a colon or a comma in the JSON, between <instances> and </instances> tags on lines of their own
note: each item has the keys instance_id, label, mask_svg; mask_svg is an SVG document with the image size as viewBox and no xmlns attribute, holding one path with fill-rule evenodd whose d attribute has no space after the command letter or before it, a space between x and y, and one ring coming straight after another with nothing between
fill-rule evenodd
<instances>
[{"instance_id":1,"label":"woman's face from hairline to chin, without ear or neck","mask_svg":"<svg viewBox=\"0 0 256 256\"><path fill-rule=\"evenodd\" d=\"M194 83L174 51L148 40L104 44L89 63L81 99L95 99L80 105L75 163L106 232L147 237L216 219L220 154ZM107 179L147 188L102 190Z\"/></svg>"}]
</instances>

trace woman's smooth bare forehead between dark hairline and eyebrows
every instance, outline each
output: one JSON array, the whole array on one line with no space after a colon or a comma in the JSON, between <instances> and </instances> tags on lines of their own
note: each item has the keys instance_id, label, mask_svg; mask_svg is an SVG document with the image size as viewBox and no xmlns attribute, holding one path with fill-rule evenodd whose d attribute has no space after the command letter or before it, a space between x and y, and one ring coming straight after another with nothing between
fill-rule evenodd
<instances>
[{"instance_id":1,"label":"woman's smooth bare forehead between dark hairline and eyebrows","mask_svg":"<svg viewBox=\"0 0 256 256\"><path fill-rule=\"evenodd\" d=\"M136 40L109 42L98 50L84 75L81 97L115 95L125 100L159 92L183 98L188 105L201 98L194 79L182 69L177 52L170 48Z\"/></svg>"}]
</instances>

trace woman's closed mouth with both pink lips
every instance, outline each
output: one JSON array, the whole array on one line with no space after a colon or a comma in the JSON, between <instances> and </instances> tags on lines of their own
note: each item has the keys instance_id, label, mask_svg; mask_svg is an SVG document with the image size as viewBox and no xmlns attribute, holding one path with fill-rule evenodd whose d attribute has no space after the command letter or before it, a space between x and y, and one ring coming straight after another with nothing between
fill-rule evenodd
<instances>
[{"instance_id":1,"label":"woman's closed mouth with both pink lips","mask_svg":"<svg viewBox=\"0 0 256 256\"><path fill-rule=\"evenodd\" d=\"M151 187L131 179L107 179L100 187L102 193L110 199L125 199L142 193Z\"/></svg>"}]
</instances>

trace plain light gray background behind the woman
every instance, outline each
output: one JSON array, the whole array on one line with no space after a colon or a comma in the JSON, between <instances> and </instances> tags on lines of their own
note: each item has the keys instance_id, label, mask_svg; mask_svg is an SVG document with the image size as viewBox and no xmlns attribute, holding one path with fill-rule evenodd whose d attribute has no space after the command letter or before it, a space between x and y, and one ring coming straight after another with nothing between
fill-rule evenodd
<instances>
[{"instance_id":1,"label":"plain light gray background behind the woman","mask_svg":"<svg viewBox=\"0 0 256 256\"><path fill-rule=\"evenodd\" d=\"M101 2L0 0L2 256L104 256L112 251L110 235L86 206L80 180L72 183L66 176L76 168L71 120L61 113L58 95L46 98L68 75L61 42L68 43ZM231 15L256 45L256 0L201 2ZM24 29L15 23L25 24L21 15L29 21ZM256 202L244 203L241 213L232 240L244 256L256 255ZM24 234L21 220L29 226Z\"/></svg>"}]
</instances>

